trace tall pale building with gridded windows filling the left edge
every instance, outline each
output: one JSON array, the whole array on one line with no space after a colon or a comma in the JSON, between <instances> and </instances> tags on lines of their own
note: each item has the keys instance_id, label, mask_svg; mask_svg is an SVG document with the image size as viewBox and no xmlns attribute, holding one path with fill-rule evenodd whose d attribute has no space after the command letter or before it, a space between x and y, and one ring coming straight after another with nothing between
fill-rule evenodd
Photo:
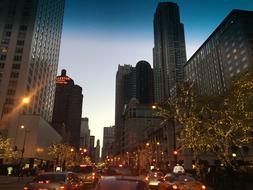
<instances>
[{"instance_id":1,"label":"tall pale building with gridded windows filling the left edge","mask_svg":"<svg viewBox=\"0 0 253 190\"><path fill-rule=\"evenodd\" d=\"M64 5L64 0L0 2L0 132L18 150L23 120L38 125L52 120Z\"/></svg>"}]
</instances>

